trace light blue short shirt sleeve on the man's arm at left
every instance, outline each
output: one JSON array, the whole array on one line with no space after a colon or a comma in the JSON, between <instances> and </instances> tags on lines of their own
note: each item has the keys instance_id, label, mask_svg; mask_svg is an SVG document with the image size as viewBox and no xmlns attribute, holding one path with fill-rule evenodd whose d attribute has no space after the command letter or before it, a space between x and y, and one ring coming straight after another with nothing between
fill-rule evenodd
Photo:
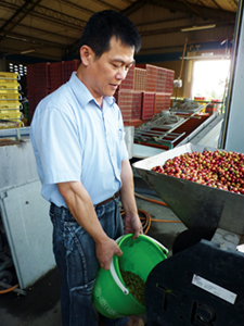
<instances>
[{"instance_id":1,"label":"light blue short shirt sleeve on the man's arm at left","mask_svg":"<svg viewBox=\"0 0 244 326\"><path fill-rule=\"evenodd\" d=\"M33 136L43 172L43 184L80 180L81 147L72 114L46 108L37 116Z\"/></svg>"}]
</instances>

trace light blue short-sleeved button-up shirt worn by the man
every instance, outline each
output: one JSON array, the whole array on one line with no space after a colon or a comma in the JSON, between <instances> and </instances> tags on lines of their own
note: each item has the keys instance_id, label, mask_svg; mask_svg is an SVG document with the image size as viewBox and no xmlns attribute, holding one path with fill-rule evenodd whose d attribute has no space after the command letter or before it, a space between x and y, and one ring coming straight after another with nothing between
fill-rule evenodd
<instances>
[{"instance_id":1,"label":"light blue short-sleeved button-up shirt worn by the man","mask_svg":"<svg viewBox=\"0 0 244 326\"><path fill-rule=\"evenodd\" d=\"M113 97L103 99L101 110L76 73L38 104L30 139L49 202L66 206L56 183L80 180L93 204L120 189L128 158L120 110Z\"/></svg>"}]
</instances>

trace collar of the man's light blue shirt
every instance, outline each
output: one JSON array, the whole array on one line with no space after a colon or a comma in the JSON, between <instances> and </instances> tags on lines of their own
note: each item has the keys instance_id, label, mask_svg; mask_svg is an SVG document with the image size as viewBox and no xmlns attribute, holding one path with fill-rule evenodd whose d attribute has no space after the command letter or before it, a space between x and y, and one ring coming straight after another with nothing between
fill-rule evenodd
<instances>
[{"instance_id":1,"label":"collar of the man's light blue shirt","mask_svg":"<svg viewBox=\"0 0 244 326\"><path fill-rule=\"evenodd\" d=\"M90 93L88 88L76 76L76 72L73 72L69 83L70 83L70 87L72 87L78 102L80 103L81 108L85 108L90 101L95 102L94 98L92 97L92 95ZM113 106L113 104L115 102L114 97L104 97L103 100L105 100L105 102L106 102L106 104L108 104L108 106Z\"/></svg>"}]
</instances>

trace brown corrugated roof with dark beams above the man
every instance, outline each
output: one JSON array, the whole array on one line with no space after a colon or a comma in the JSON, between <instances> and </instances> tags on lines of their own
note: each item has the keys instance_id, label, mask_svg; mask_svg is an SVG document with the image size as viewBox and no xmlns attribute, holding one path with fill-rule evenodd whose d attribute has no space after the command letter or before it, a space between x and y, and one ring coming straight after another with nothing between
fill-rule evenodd
<instances>
[{"instance_id":1,"label":"brown corrugated roof with dark beams above the man","mask_svg":"<svg viewBox=\"0 0 244 326\"><path fill-rule=\"evenodd\" d=\"M156 48L158 35L179 34L192 24L224 26L229 37L233 34L237 0L1 0L0 54L8 59L12 53L31 51L27 55L57 61L76 54L86 22L106 9L123 12L134 22L143 50ZM166 48L171 47L169 38L167 45L165 37ZM184 36L174 38L175 47L179 47L177 42Z\"/></svg>"}]
</instances>

